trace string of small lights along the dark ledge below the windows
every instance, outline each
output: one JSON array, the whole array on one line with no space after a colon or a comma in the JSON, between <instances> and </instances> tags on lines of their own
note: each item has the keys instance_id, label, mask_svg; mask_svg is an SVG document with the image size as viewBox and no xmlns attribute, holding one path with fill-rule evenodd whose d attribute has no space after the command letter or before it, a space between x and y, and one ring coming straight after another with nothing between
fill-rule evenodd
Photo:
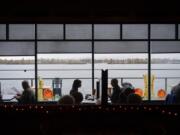
<instances>
[{"instance_id":1,"label":"string of small lights along the dark ledge below the windows","mask_svg":"<svg viewBox=\"0 0 180 135\"><path fill-rule=\"evenodd\" d=\"M178 112L171 110L168 110L167 108L164 108L164 106L161 108L159 106L132 106L132 105L119 105L119 106L57 106L57 105L10 105L10 104L1 104L0 110L9 111L9 112L36 112L36 113L46 113L49 114L49 112L142 112L142 111L153 111L160 114L168 115L177 117Z\"/></svg>"}]
</instances>

